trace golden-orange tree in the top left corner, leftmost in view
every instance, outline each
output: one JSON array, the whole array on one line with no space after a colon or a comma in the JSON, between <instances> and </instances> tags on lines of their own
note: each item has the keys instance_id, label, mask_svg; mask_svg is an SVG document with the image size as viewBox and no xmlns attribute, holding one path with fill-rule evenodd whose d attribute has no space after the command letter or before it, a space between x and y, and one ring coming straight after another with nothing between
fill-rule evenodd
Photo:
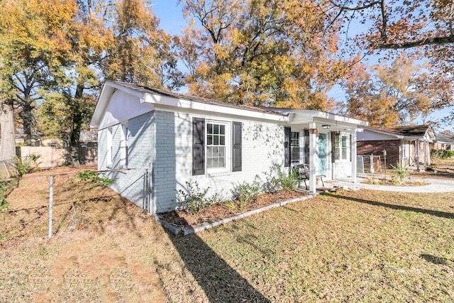
<instances>
[{"instance_id":1,"label":"golden-orange tree in the top left corner, leftmost in view","mask_svg":"<svg viewBox=\"0 0 454 303\"><path fill-rule=\"evenodd\" d=\"M31 139L33 111L43 89L64 77L61 61L70 56L67 25L74 8L72 0L2 1L0 93L7 106L17 109L25 141Z\"/></svg>"}]
</instances>

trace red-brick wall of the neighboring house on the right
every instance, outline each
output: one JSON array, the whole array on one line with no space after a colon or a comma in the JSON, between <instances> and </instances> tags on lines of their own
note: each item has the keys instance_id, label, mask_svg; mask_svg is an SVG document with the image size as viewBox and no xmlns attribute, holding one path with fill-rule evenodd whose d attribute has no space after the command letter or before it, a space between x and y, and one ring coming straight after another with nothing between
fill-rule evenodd
<instances>
[{"instance_id":1,"label":"red-brick wall of the neighboring house on the right","mask_svg":"<svg viewBox=\"0 0 454 303\"><path fill-rule=\"evenodd\" d=\"M387 168L389 165L396 165L400 163L400 141L399 140L382 140L382 141L357 141L357 154L358 155L383 155L382 150L386 150ZM382 167L384 167L384 160L382 157Z\"/></svg>"}]
</instances>

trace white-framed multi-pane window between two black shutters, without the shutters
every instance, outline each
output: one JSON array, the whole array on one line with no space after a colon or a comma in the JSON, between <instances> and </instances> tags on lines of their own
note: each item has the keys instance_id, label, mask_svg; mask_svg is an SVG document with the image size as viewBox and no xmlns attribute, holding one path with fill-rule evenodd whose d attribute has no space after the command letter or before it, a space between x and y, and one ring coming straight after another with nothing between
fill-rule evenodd
<instances>
[{"instance_id":1,"label":"white-framed multi-pane window between two black shutters, without the shutters","mask_svg":"<svg viewBox=\"0 0 454 303\"><path fill-rule=\"evenodd\" d=\"M206 123L206 169L225 169L226 156L226 124Z\"/></svg>"}]
</instances>

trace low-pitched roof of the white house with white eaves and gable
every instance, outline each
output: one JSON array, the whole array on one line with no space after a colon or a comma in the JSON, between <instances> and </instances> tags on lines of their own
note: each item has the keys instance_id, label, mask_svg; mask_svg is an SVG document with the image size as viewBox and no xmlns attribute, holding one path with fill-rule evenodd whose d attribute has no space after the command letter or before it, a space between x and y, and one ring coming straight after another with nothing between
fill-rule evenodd
<instances>
[{"instance_id":1,"label":"low-pitched roof of the white house with white eaves and gable","mask_svg":"<svg viewBox=\"0 0 454 303\"><path fill-rule=\"evenodd\" d=\"M123 99L118 94L123 94ZM117 96L117 97L116 97ZM124 103L124 96L131 96L135 103ZM115 101L112 101L115 100ZM114 105L109 105L111 103ZM110 107L109 107L110 106ZM111 107L113 106L113 107ZM327 121L328 123L339 123L339 127L367 125L367 122L358 119L351 119L335 114L328 114L323 111L309 111L297 109L276 109L271 107L258 107L245 104L233 104L226 101L193 97L187 94L168 92L162 89L145 87L143 85L128 84L118 81L106 81L99 95L96 109L90 122L91 128L106 128L114 123L121 123L122 119L131 119L134 115L145 114L153 109L171 110L184 109L197 111L199 113L216 113L229 116L248 117L252 119L264 119L278 121L279 123L308 123ZM112 114L110 109L114 109ZM109 111L109 119L104 115Z\"/></svg>"}]
</instances>

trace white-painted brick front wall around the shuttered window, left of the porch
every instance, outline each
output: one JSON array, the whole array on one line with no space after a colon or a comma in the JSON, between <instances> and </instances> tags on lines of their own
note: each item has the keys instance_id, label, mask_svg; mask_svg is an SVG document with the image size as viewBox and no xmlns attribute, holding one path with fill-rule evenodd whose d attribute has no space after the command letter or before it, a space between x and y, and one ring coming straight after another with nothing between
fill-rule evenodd
<instances>
[{"instance_id":1,"label":"white-painted brick front wall around the shuttered window, left of the porch","mask_svg":"<svg viewBox=\"0 0 454 303\"><path fill-rule=\"evenodd\" d=\"M157 212L175 209L177 190L186 182L197 181L208 194L218 193L231 199L231 190L238 182L253 182L255 175L265 176L273 165L284 165L284 126L275 123L198 116L216 121L242 122L242 170L216 174L192 175L193 114L156 111L157 153L153 170ZM172 140L172 138L174 138ZM231 163L231 161L230 161Z\"/></svg>"}]
</instances>

